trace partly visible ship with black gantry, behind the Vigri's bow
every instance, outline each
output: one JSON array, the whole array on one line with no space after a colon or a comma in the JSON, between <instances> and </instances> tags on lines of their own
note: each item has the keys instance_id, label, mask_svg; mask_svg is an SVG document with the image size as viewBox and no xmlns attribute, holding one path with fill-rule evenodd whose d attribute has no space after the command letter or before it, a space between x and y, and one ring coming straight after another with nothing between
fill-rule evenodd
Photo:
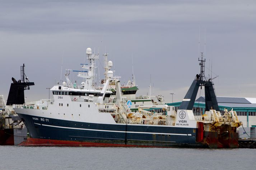
<instances>
[{"instance_id":1,"label":"partly visible ship with black gantry, behind the Vigri's bow","mask_svg":"<svg viewBox=\"0 0 256 170\"><path fill-rule=\"evenodd\" d=\"M24 67L20 66L20 80L11 78L10 91L7 102L3 95L0 95L0 145L18 145L27 137L27 128L20 117L13 110L13 104L24 104L24 90L33 86L24 73Z\"/></svg>"}]
</instances>

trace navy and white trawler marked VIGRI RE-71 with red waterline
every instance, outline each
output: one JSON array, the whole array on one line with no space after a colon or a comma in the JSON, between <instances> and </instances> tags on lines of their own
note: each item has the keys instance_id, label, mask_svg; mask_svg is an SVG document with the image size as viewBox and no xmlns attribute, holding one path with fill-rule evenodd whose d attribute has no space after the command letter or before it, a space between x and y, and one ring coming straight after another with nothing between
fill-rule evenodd
<instances>
[{"instance_id":1,"label":"navy and white trawler marked VIGRI RE-71 with red waterline","mask_svg":"<svg viewBox=\"0 0 256 170\"><path fill-rule=\"evenodd\" d=\"M124 146L124 147L238 147L236 128L241 125L236 112L221 115L213 83L201 73L191 84L178 111L162 106L163 113L141 108L132 113L121 94L120 81L108 71L102 89L93 86L95 60L98 56L86 50L89 64L83 64L81 86L66 82L53 86L53 98L31 105L14 105L29 131L22 146ZM192 107L200 86L205 87L206 112L194 116ZM115 97L111 97L115 88ZM150 106L151 107L151 106Z\"/></svg>"}]
</instances>

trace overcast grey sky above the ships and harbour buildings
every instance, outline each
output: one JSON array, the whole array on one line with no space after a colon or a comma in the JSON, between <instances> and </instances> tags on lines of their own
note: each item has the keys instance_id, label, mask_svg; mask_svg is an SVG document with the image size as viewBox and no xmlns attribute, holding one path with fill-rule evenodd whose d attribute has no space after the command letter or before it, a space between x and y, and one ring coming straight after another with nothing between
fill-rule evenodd
<instances>
[{"instance_id":1,"label":"overcast grey sky above the ships and harbour buildings","mask_svg":"<svg viewBox=\"0 0 256 170\"><path fill-rule=\"evenodd\" d=\"M199 31L200 30L200 31ZM206 30L206 36L205 36ZM48 98L46 88L65 69L79 70L85 50L109 53L116 76L132 76L138 94L181 101L200 72L198 46L218 96L256 97L256 1L205 0L0 0L0 94L7 99L20 65L35 86L28 101ZM206 37L206 38L205 38ZM71 81L80 79L75 73ZM200 92L199 92L200 94ZM52 96L52 95L51 95Z\"/></svg>"}]
</instances>

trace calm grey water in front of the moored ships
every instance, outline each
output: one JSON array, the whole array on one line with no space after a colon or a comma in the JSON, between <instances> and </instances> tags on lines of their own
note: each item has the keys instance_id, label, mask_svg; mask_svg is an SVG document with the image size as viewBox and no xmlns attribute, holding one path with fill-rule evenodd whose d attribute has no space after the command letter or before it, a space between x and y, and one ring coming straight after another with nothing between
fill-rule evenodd
<instances>
[{"instance_id":1,"label":"calm grey water in front of the moored ships","mask_svg":"<svg viewBox=\"0 0 256 170\"><path fill-rule=\"evenodd\" d=\"M4 169L255 169L255 149L0 146Z\"/></svg>"}]
</instances>

